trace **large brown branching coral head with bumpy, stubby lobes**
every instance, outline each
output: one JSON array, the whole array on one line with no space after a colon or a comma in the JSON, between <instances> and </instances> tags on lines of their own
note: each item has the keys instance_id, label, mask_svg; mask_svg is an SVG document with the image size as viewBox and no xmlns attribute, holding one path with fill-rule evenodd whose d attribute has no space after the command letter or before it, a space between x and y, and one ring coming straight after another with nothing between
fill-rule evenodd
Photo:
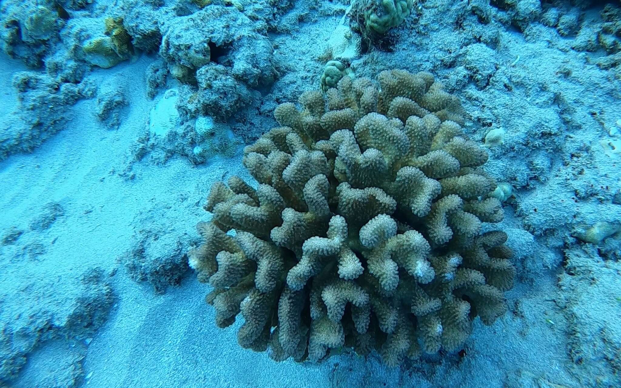
<instances>
[{"instance_id":1,"label":"large brown branching coral head with bumpy, stubby lobes","mask_svg":"<svg viewBox=\"0 0 621 388\"><path fill-rule=\"evenodd\" d=\"M506 310L515 268L487 153L432 74L343 77L281 104L244 150L258 186L215 183L189 254L218 327L275 360L376 350L390 366L459 350Z\"/></svg>"}]
</instances>

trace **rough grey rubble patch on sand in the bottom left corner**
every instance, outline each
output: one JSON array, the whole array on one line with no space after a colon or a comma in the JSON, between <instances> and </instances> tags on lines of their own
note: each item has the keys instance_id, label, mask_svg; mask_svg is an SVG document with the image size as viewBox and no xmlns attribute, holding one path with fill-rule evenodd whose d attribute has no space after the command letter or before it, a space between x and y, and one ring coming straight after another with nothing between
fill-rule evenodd
<instances>
[{"instance_id":1,"label":"rough grey rubble patch on sand in the bottom left corner","mask_svg":"<svg viewBox=\"0 0 621 388\"><path fill-rule=\"evenodd\" d=\"M77 353L86 353L88 338L107 322L116 300L111 285L101 268L93 268L79 276L78 287L61 299L59 306L54 294L58 293L57 282L53 280L32 280L24 287L29 292L14 296L19 303L3 305L0 311L0 386L13 386L22 369L32 364L32 353L41 350L51 342L62 343L65 348L74 348ZM6 295L2 295L3 301ZM11 314L12 313L12 314ZM9 319L7 315L11 314ZM83 375L81 366L84 355L73 361L67 374L68 380ZM63 358L55 359L58 363ZM47 372L47 371L46 371ZM54 372L46 373L47 386L70 387L53 381Z\"/></svg>"}]
</instances>

